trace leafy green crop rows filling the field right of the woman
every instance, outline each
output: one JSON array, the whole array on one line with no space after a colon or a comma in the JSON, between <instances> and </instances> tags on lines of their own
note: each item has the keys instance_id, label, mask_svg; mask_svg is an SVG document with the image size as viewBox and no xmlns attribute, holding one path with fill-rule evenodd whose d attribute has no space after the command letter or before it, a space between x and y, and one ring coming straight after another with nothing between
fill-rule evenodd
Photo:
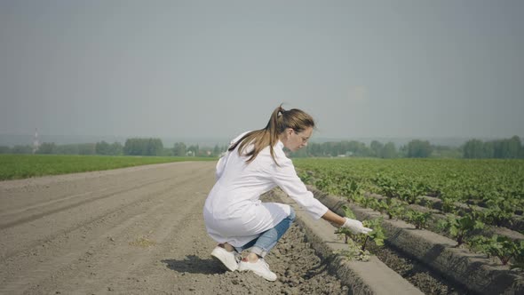
<instances>
[{"instance_id":1,"label":"leafy green crop rows filling the field right of the woman","mask_svg":"<svg viewBox=\"0 0 524 295\"><path fill-rule=\"evenodd\" d=\"M521 238L493 235L493 228L496 232L502 223L511 223L515 213L521 214L522 161L315 159L297 161L296 165L306 183L328 194L343 195L417 228L431 224L430 229L439 228L440 233L454 238L457 246L464 244L470 250L498 257L504 265L511 261L521 267L524 262ZM373 193L383 197L369 197ZM420 207L418 203L428 204L421 202L425 195L443 203L438 226L433 224L433 208L412 209Z\"/></svg>"}]
</instances>

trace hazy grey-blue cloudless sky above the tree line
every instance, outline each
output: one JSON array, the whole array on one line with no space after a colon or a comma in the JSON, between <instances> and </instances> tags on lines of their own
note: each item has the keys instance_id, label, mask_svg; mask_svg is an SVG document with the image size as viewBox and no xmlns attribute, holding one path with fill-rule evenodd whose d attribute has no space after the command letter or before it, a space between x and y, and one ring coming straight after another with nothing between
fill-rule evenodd
<instances>
[{"instance_id":1,"label":"hazy grey-blue cloudless sky above the tree line","mask_svg":"<svg viewBox=\"0 0 524 295\"><path fill-rule=\"evenodd\" d=\"M524 136L524 1L0 0L0 133Z\"/></svg>"}]
</instances>

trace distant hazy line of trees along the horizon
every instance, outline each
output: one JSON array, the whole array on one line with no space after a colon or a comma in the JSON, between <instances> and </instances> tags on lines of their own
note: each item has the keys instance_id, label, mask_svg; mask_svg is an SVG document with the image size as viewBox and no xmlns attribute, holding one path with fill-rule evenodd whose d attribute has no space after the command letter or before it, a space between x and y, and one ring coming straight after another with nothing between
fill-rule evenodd
<instances>
[{"instance_id":1,"label":"distant hazy line of trees along the horizon","mask_svg":"<svg viewBox=\"0 0 524 295\"><path fill-rule=\"evenodd\" d=\"M227 146L215 145L199 147L187 146L184 142L176 142L172 148L165 148L163 141L157 138L131 138L120 142L57 145L53 142L44 142L36 150L41 155L157 155L157 156L204 156L218 157L227 149ZM32 154L32 146L0 147L0 154ZM393 142L382 143L377 140L369 146L356 140L332 142L310 142L306 148L297 152L289 152L291 157L330 157L356 156L378 158L524 158L524 147L518 136L504 140L467 140L461 147L446 147L432 145L428 140L411 140L399 148Z\"/></svg>"}]
</instances>

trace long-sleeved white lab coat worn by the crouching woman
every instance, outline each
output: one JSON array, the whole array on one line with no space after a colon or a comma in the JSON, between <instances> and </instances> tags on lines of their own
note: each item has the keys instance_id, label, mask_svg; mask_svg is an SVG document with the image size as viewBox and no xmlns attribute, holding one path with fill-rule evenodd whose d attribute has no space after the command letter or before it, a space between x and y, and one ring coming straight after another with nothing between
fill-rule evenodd
<instances>
[{"instance_id":1,"label":"long-sleeved white lab coat worn by the crouching woman","mask_svg":"<svg viewBox=\"0 0 524 295\"><path fill-rule=\"evenodd\" d=\"M320 219L328 211L298 178L283 147L280 140L274 146L275 159L280 167L274 163L269 147L261 150L249 164L246 163L247 156L238 155L238 147L218 160L217 182L203 208L206 229L213 240L241 247L290 215L287 204L262 203L259 200L260 195L277 186L314 219ZM247 150L250 148L252 146Z\"/></svg>"}]
</instances>

